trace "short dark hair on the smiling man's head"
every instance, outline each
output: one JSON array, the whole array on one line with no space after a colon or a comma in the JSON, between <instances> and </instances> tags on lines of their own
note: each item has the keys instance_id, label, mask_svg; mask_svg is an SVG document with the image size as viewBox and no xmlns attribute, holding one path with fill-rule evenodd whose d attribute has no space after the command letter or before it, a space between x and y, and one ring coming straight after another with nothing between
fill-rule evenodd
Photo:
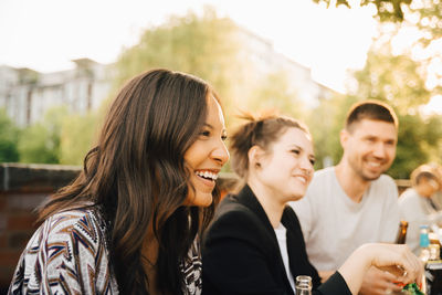
<instances>
[{"instance_id":1,"label":"short dark hair on the smiling man's head","mask_svg":"<svg viewBox=\"0 0 442 295\"><path fill-rule=\"evenodd\" d=\"M380 101L364 101L351 106L346 118L346 129L351 130L351 127L362 119L382 120L391 123L398 128L398 117L391 106Z\"/></svg>"}]
</instances>

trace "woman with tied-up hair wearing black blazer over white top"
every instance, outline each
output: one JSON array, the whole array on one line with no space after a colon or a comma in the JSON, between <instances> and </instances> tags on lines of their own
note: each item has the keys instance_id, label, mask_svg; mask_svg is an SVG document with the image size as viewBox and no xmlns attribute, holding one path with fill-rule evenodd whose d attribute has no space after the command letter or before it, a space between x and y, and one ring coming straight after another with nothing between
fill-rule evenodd
<instances>
[{"instance_id":1,"label":"woman with tied-up hair wearing black blazer over white top","mask_svg":"<svg viewBox=\"0 0 442 295\"><path fill-rule=\"evenodd\" d=\"M320 284L287 204L303 198L312 180L311 134L288 117L244 118L249 123L231 137L230 150L232 168L245 185L221 201L204 234L203 294L293 295L298 275L312 277L313 294L357 294L372 265L393 266L389 274L398 282L421 277L422 266L407 245L373 243L357 247Z\"/></svg>"}]
</instances>

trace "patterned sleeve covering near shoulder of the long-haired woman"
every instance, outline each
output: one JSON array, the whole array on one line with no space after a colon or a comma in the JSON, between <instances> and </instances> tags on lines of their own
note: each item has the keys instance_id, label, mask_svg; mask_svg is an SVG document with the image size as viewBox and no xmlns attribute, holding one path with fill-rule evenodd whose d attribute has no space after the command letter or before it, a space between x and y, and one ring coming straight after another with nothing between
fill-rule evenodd
<instances>
[{"instance_id":1,"label":"patterned sleeve covering near shoulder of the long-haired woman","mask_svg":"<svg viewBox=\"0 0 442 295\"><path fill-rule=\"evenodd\" d=\"M94 285L92 278L96 280L97 288L106 288L107 284L114 286L109 277L104 230L94 210L78 209L53 214L28 243L11 285L19 287L25 283L30 293L75 291L82 285L88 289Z\"/></svg>"}]
</instances>

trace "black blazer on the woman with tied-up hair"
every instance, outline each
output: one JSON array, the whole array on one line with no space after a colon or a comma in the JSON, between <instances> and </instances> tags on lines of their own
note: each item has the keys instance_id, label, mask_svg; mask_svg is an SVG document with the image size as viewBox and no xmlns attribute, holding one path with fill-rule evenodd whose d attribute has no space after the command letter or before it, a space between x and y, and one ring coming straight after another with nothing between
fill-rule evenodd
<instances>
[{"instance_id":1,"label":"black blazer on the woman with tied-up hair","mask_svg":"<svg viewBox=\"0 0 442 295\"><path fill-rule=\"evenodd\" d=\"M312 276L314 294L351 294L339 273L320 285L319 275L307 257L299 221L288 206L282 223L287 230L293 277ZM249 186L238 196L227 196L217 209L203 238L202 282L202 293L209 295L294 294L275 231Z\"/></svg>"}]
</instances>

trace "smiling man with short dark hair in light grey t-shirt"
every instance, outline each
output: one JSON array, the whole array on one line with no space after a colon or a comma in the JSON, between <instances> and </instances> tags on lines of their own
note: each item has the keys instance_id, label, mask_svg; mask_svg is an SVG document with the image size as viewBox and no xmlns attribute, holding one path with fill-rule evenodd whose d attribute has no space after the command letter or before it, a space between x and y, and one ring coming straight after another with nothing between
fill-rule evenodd
<instances>
[{"instance_id":1,"label":"smiling man with short dark hair in light grey t-shirt","mask_svg":"<svg viewBox=\"0 0 442 295\"><path fill-rule=\"evenodd\" d=\"M307 254L325 281L364 243L393 242L399 228L398 188L383 175L396 157L398 118L379 101L356 103L340 131L343 157L315 172L305 198L292 206ZM394 277L372 267L361 294L400 291Z\"/></svg>"}]
</instances>

